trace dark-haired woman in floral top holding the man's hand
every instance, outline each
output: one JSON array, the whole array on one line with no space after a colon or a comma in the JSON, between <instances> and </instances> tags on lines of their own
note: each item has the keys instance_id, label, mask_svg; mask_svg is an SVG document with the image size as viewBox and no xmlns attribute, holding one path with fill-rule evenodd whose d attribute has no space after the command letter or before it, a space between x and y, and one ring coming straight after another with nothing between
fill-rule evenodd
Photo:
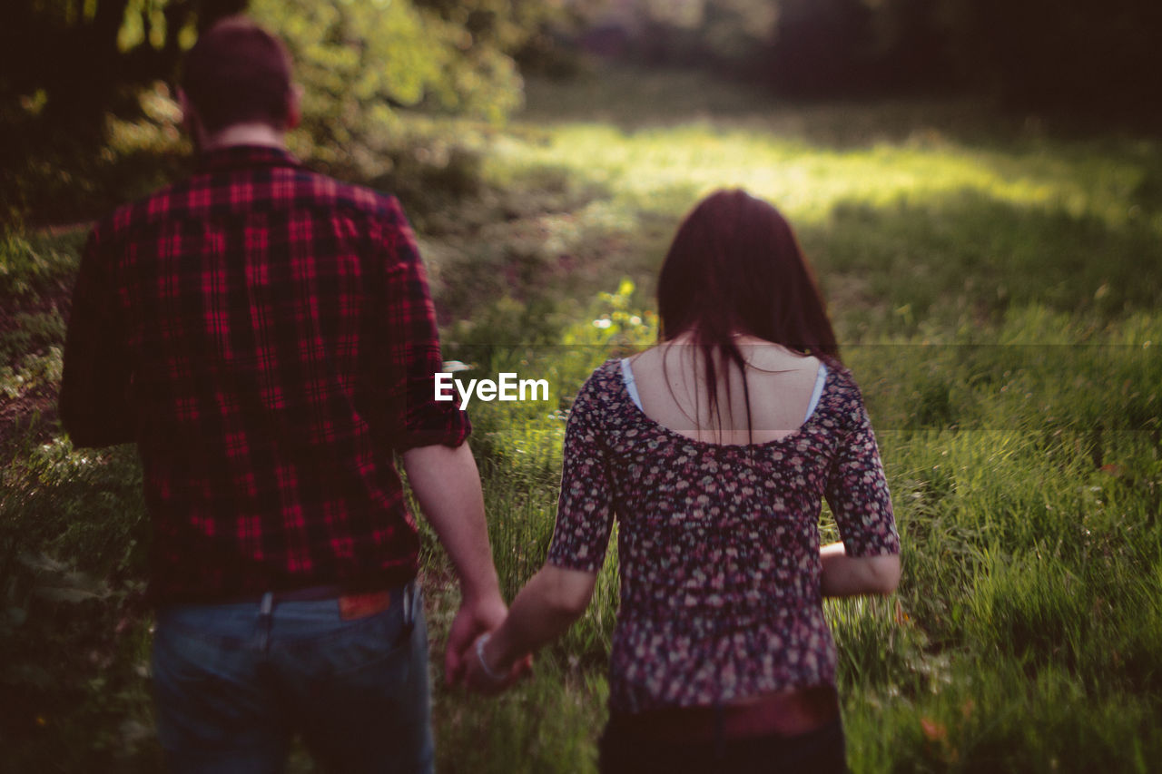
<instances>
[{"instance_id":1,"label":"dark-haired woman in floral top holding the man's hand","mask_svg":"<svg viewBox=\"0 0 1162 774\"><path fill-rule=\"evenodd\" d=\"M658 306L658 346L581 388L547 562L466 679L502 687L584 611L616 513L602 771L845 771L823 597L899 580L859 388L790 225L741 191L682 223Z\"/></svg>"}]
</instances>

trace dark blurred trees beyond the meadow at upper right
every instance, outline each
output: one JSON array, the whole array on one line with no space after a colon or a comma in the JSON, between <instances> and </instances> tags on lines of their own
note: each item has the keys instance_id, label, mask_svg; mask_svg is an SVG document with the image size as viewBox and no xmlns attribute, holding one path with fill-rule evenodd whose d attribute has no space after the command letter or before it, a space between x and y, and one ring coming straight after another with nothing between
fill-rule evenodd
<instances>
[{"instance_id":1,"label":"dark blurred trees beyond the meadow at upper right","mask_svg":"<svg viewBox=\"0 0 1162 774\"><path fill-rule=\"evenodd\" d=\"M581 0L579 0L581 2ZM829 96L977 87L1030 107L1157 109L1156 0L584 0L648 62Z\"/></svg>"}]
</instances>

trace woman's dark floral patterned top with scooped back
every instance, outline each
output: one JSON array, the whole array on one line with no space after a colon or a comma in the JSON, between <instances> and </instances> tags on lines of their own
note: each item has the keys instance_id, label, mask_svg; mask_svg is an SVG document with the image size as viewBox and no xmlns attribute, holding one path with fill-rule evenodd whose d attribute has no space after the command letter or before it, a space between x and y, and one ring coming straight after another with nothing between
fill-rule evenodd
<instances>
[{"instance_id":1,"label":"woman's dark floral patterned top with scooped back","mask_svg":"<svg viewBox=\"0 0 1162 774\"><path fill-rule=\"evenodd\" d=\"M569 415L548 562L596 572L618 518L621 610L610 709L712 705L830 685L819 511L846 552L899 552L875 435L852 375L829 368L815 411L761 444L695 440L633 404L618 360Z\"/></svg>"}]
</instances>

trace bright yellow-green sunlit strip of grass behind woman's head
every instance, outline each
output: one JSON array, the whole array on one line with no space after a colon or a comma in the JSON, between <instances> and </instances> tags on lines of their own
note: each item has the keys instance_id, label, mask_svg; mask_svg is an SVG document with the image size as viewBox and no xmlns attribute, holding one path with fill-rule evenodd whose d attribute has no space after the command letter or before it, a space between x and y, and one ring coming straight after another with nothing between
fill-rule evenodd
<instances>
[{"instance_id":1,"label":"bright yellow-green sunlit strip of grass behind woman's head","mask_svg":"<svg viewBox=\"0 0 1162 774\"><path fill-rule=\"evenodd\" d=\"M834 151L776 135L720 131L709 122L632 134L608 124L568 124L555 128L547 144L507 141L495 163L560 166L581 180L616 188L619 200L638 206L655 196L669 205L676 193L691 200L738 186L776 202L801 223L824 221L841 201L888 205L970 189L1013 205L1061 207L1120 224L1128 208L1119 206L1117 193L1141 177L1140 170L1119 165L1083 180L1073 169L1054 169L1035 158L996 158L952 142Z\"/></svg>"}]
</instances>

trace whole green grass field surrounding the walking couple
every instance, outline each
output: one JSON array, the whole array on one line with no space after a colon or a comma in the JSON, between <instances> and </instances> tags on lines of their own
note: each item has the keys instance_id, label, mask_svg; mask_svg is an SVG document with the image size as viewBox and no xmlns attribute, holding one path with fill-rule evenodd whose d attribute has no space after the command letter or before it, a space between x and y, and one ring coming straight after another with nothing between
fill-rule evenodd
<instances>
[{"instance_id":1,"label":"whole green grass field surrounding the walking couple","mask_svg":"<svg viewBox=\"0 0 1162 774\"><path fill-rule=\"evenodd\" d=\"M852 768L1154 768L1162 145L971 103L782 105L683 73L528 98L512 126L426 151L454 196L406 196L445 357L552 386L548 403L471 411L505 593L544 559L573 394L655 336L653 278L683 212L745 186L815 264L904 545L895 596L827 604ZM139 472L129 449L74 451L51 410L83 235L0 242L0 733L15 740L0 767L148 772ZM456 592L424 545L438 648ZM440 771L594 768L612 559L531 680L498 700L437 689Z\"/></svg>"}]
</instances>

